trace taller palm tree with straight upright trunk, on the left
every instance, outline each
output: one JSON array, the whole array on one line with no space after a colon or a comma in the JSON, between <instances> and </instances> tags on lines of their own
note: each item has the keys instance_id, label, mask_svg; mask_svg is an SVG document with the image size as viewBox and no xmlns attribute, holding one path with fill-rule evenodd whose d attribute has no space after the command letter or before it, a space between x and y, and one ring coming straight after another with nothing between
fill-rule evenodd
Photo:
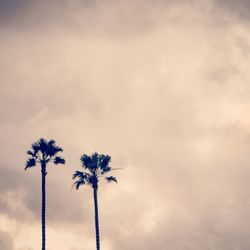
<instances>
[{"instance_id":1,"label":"taller palm tree with straight upright trunk, on the left","mask_svg":"<svg viewBox=\"0 0 250 250\"><path fill-rule=\"evenodd\" d=\"M28 160L26 161L25 170L28 168L35 167L36 164L41 166L42 173L42 250L45 250L45 215L46 215L46 167L49 162L54 164L65 164L65 160L56 156L57 153L62 152L63 149L56 146L54 140L45 140L41 138L37 142L31 145L31 150L27 151L29 155Z\"/></svg>"}]
</instances>

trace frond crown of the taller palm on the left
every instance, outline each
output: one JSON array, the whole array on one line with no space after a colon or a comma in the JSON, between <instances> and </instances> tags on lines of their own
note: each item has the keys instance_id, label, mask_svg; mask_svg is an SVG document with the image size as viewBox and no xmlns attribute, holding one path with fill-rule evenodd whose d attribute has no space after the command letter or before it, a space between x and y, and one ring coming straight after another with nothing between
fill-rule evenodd
<instances>
[{"instance_id":1,"label":"frond crown of the taller palm on the left","mask_svg":"<svg viewBox=\"0 0 250 250\"><path fill-rule=\"evenodd\" d=\"M65 164L65 160L62 157L56 156L58 152L62 151L62 148L55 145L54 140L47 141L41 138L31 145L31 150L27 151L30 157L26 161L25 170L35 167L37 163L47 164L48 162L53 162L54 164Z\"/></svg>"}]
</instances>

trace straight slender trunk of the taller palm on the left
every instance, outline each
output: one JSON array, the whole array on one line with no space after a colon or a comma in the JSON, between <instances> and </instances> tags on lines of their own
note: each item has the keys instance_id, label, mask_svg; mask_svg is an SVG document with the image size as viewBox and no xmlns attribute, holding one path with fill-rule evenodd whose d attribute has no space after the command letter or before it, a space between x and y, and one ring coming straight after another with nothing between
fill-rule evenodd
<instances>
[{"instance_id":1,"label":"straight slender trunk of the taller palm on the left","mask_svg":"<svg viewBox=\"0 0 250 250\"><path fill-rule=\"evenodd\" d=\"M46 164L42 163L42 250L45 250L45 242L46 242Z\"/></svg>"}]
</instances>

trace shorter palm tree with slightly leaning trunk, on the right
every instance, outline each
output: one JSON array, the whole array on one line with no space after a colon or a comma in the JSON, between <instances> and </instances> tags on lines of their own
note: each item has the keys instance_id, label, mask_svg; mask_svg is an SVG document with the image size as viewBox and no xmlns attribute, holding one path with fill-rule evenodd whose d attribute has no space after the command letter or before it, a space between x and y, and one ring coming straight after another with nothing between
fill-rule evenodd
<instances>
[{"instance_id":1,"label":"shorter palm tree with slightly leaning trunk, on the right","mask_svg":"<svg viewBox=\"0 0 250 250\"><path fill-rule=\"evenodd\" d=\"M111 157L109 155L103 155L94 153L91 156L83 154L81 157L81 163L84 171L76 171L73 174L75 188L78 190L81 185L90 185L93 188L94 196L94 208L95 208L95 233L96 233L96 249L100 250L100 232L99 232L99 219L98 219L98 201L97 201L97 189L98 181L100 177L104 177L107 182L117 182L114 176L106 176L112 169L109 166Z\"/></svg>"}]
</instances>

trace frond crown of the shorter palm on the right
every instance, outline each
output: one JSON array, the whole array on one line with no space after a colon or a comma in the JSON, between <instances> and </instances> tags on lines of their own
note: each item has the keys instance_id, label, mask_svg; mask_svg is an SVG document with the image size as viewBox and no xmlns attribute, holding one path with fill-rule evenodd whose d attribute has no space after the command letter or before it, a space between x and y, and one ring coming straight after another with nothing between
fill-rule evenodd
<instances>
[{"instance_id":1,"label":"frond crown of the shorter palm on the right","mask_svg":"<svg viewBox=\"0 0 250 250\"><path fill-rule=\"evenodd\" d=\"M106 176L106 174L112 170L109 166L111 161L109 155L94 153L88 156L83 154L80 160L85 171L75 171L73 174L73 179L77 179L74 182L76 189L79 189L79 187L84 184L97 189L100 177L105 177L107 182L117 182L116 177Z\"/></svg>"}]
</instances>

